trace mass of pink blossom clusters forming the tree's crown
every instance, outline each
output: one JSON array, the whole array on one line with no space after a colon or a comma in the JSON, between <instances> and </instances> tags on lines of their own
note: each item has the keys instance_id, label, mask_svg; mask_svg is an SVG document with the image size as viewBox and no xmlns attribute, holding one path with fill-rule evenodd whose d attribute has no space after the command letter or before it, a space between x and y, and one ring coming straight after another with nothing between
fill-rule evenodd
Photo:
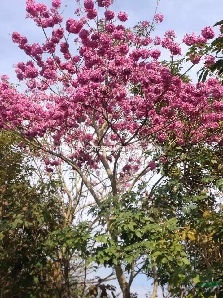
<instances>
[{"instance_id":1,"label":"mass of pink blossom clusters forming the tree's crown","mask_svg":"<svg viewBox=\"0 0 223 298\"><path fill-rule=\"evenodd\" d=\"M42 46L28 44L27 38L18 32L12 34L13 42L28 56L28 62L17 63L15 71L26 82L29 93L18 92L8 77L2 76L0 127L22 127L29 138L42 138L49 133L55 148L68 142L73 154L69 152L67 158L92 169L97 169L104 157L78 151L75 146L96 146L95 125L101 128L106 122L105 146L128 147L136 141L145 146L148 140L165 143L169 136L179 145L222 142L222 133L217 130L223 121L221 83L217 79L208 79L198 86L185 83L158 61L161 51L154 46L161 45L172 55L181 54L175 31L168 30L163 39L143 35L140 30L147 30L148 22L142 23L139 31L129 30L119 21L112 22L115 13L108 10L110 0L97 2L106 18L102 29L88 23L97 16L93 0L84 0L85 16L69 18L66 28L57 11L59 0L52 1L50 10L44 4L27 0L28 16L43 30L47 26L53 30L47 33ZM128 20L122 11L117 17L121 22ZM161 22L163 16L157 14L154 20ZM67 39L68 35L73 36L70 33L76 34L75 49ZM184 42L205 43L208 38L213 38L210 27L202 30L202 37L186 34ZM193 63L200 59L200 55L191 54ZM212 56L205 60L206 65L214 63ZM113 158L116 153L109 156L109 162ZM165 164L167 160L161 157L160 162ZM130 176L138 171L139 164L137 159L128 160L121 174ZM55 165L46 160L49 171ZM157 161L151 161L148 166L154 170L157 165Z\"/></svg>"}]
</instances>

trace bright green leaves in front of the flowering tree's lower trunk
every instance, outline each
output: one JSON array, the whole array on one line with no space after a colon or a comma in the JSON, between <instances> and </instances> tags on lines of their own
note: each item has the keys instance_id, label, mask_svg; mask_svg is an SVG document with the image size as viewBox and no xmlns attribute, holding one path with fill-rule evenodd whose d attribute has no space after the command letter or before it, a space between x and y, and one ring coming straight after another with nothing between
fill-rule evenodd
<instances>
[{"instance_id":1,"label":"bright green leaves in front of the flowering tree's lower trunk","mask_svg":"<svg viewBox=\"0 0 223 298\"><path fill-rule=\"evenodd\" d=\"M176 233L179 227L175 218L170 216L163 220L156 207L149 210L140 208L144 199L140 191L138 194L124 194L112 207L114 199L110 197L101 206L104 211L98 212L100 216L102 212L109 216L109 226L119 238L112 239L107 233L95 237L98 242L95 255L99 264L124 264L129 270L133 261L145 257L144 269L148 272L154 262L162 271L189 263L179 242L179 233Z\"/></svg>"}]
</instances>

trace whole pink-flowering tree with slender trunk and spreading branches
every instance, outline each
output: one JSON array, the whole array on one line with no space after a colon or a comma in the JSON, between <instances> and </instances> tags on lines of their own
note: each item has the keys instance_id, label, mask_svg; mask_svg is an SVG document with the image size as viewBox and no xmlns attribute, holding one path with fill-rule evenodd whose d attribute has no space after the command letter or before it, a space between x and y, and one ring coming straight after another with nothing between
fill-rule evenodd
<instances>
[{"instance_id":1,"label":"whole pink-flowering tree with slender trunk and spreading branches","mask_svg":"<svg viewBox=\"0 0 223 298\"><path fill-rule=\"evenodd\" d=\"M125 204L124 209L120 206L126 197L133 199L139 182L153 183L137 206L144 212L162 179L176 172L176 165L194 148L202 143L221 145L223 87L217 79L194 85L185 80L187 71L173 73L175 57L181 55L174 30L164 38L151 36L163 21L161 14L155 12L151 23L143 21L130 29L124 26L127 13L120 11L116 17L111 0L76 2L77 17L65 20L64 26L60 0L53 0L50 9L26 1L27 17L42 29L45 40L42 46L29 44L26 37L13 32L12 40L28 55L28 61L16 64L17 77L28 89L20 93L2 76L0 127L19 134L24 139L21 147L26 143L41 150L47 172L59 165L75 171L80 189L97 204L109 243L115 247L113 254L104 257L97 251L96 259L113 266L123 297L129 298L140 255L123 261L120 224L114 220L121 216L117 210L124 212ZM213 37L213 29L206 27L201 37L186 34L183 41L205 47ZM77 52L72 53L71 44ZM158 62L160 47L169 50L170 65ZM194 51L190 55L192 68L202 55ZM154 146L158 149L149 155ZM174 155L167 154L170 148ZM157 178L154 174L163 167ZM106 205L110 211L105 212ZM146 221L146 213L142 215ZM175 226L167 222L174 236ZM151 251L150 246L148 254ZM132 270L128 282L123 262ZM155 277L155 254L152 262Z\"/></svg>"}]
</instances>

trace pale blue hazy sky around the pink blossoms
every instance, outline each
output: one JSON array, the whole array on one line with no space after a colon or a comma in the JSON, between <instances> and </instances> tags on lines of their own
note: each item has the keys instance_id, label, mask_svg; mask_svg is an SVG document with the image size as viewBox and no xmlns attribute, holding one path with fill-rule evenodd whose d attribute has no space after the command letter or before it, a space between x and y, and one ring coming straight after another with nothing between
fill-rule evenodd
<instances>
[{"instance_id":1,"label":"pale blue hazy sky around the pink blossoms","mask_svg":"<svg viewBox=\"0 0 223 298\"><path fill-rule=\"evenodd\" d=\"M50 0L42 0L42 3L50 6ZM62 6L65 7L64 19L74 17L76 7L75 0L62 0ZM140 20L151 20L156 0L116 0L113 10L126 11L129 14L129 20L126 26L131 27ZM175 29L178 41L181 41L186 32L195 32L200 34L201 29L207 25L214 25L223 18L222 0L161 0L158 12L164 14L163 23L156 26L154 36L163 37L168 29ZM36 27L30 19L25 19L25 0L1 0L0 10L0 74L8 74L11 82L18 82L15 76L13 64L18 61L28 61L28 56L21 51L18 46L11 41L13 31L18 31L21 35L28 38L29 43L38 42L42 44L44 38L40 28ZM218 34L219 27L216 28ZM163 58L169 57L169 52L164 50ZM184 47L186 51L186 47ZM196 66L199 69L199 66ZM193 80L196 79L195 70L190 72ZM104 273L104 270L103 270ZM103 278L103 276L101 276ZM116 282L111 282L116 284ZM132 292L137 292L139 298L144 297L151 289L151 282L141 275L135 279L132 286ZM161 297L161 296L160 296Z\"/></svg>"}]
</instances>

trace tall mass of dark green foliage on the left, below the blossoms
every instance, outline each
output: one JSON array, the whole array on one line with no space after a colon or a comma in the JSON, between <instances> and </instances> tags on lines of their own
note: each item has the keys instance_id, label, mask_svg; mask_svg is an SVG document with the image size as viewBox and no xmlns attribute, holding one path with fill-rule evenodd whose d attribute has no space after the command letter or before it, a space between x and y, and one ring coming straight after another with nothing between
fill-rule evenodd
<instances>
[{"instance_id":1,"label":"tall mass of dark green foliage on the left, below the blossoms","mask_svg":"<svg viewBox=\"0 0 223 298\"><path fill-rule=\"evenodd\" d=\"M62 297L66 262L73 256L78 261L86 258L89 223L67 224L56 197L60 181L30 184L33 167L17 147L20 142L10 132L0 133L2 297ZM77 278L72 278L73 294L80 293Z\"/></svg>"}]
</instances>

